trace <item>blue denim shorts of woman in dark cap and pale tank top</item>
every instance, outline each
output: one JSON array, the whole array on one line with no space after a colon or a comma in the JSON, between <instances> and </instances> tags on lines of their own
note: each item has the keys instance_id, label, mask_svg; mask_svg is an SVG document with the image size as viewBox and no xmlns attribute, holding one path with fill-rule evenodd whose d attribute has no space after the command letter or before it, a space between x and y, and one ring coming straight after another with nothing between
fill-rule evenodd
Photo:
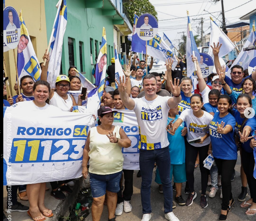
<instances>
[{"instance_id":1,"label":"blue denim shorts of woman in dark cap and pale tank top","mask_svg":"<svg viewBox=\"0 0 256 221\"><path fill-rule=\"evenodd\" d=\"M109 192L117 193L120 190L119 182L121 180L123 171L116 174L91 174L91 195L93 198L102 197L106 194L106 190Z\"/></svg>"}]
</instances>

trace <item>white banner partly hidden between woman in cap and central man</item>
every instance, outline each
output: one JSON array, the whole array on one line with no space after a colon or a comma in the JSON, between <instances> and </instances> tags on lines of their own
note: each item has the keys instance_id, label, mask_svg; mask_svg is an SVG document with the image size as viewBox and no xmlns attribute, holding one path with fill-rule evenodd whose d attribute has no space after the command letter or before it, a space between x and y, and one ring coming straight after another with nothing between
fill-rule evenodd
<instances>
[{"instance_id":1,"label":"white banner partly hidden between woman in cap and central man","mask_svg":"<svg viewBox=\"0 0 256 221\"><path fill-rule=\"evenodd\" d=\"M132 141L132 145L129 148L122 148L124 157L123 169L125 170L139 170L140 169L140 150L139 145L139 126L135 112L133 110L117 110L114 113L115 126L120 126L124 129L125 134Z\"/></svg>"}]
</instances>

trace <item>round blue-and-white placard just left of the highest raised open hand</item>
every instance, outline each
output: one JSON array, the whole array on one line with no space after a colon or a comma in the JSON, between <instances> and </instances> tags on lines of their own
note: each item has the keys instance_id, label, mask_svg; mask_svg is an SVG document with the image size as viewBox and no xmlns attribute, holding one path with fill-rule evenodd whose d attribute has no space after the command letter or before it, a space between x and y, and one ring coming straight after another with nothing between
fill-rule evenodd
<instances>
[{"instance_id":1,"label":"round blue-and-white placard just left of the highest raised open hand","mask_svg":"<svg viewBox=\"0 0 256 221\"><path fill-rule=\"evenodd\" d=\"M198 63L201 68L203 78L208 77L214 69L214 61L212 57L206 53L200 53L200 61L198 61ZM198 78L195 72L193 72L193 76Z\"/></svg>"}]
</instances>

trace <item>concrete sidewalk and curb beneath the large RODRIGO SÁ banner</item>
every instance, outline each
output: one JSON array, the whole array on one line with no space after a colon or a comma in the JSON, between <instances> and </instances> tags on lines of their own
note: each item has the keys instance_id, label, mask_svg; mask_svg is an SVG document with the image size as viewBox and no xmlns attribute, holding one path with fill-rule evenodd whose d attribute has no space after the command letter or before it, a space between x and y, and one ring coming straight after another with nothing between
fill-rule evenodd
<instances>
[{"instance_id":1,"label":"concrete sidewalk and curb beneath the large RODRIGO S\u00c1 banner","mask_svg":"<svg viewBox=\"0 0 256 221\"><path fill-rule=\"evenodd\" d=\"M50 218L46 217L46 220L58 221L60 216L68 216L69 207L75 203L78 192L81 189L84 189L84 188L87 189L90 186L89 178L85 181L83 181L83 178L80 178L80 180L78 181L74 180L74 183L75 183L74 187L71 187L73 189L73 194L64 193L66 195L66 200L58 200L52 197L50 195L50 192L51 192L50 183L48 182L46 184L46 186L49 187L50 190L47 190L45 192L45 205L47 208L50 208L54 213L53 217L50 217ZM19 199L19 197L17 197L17 199L23 205L29 206L28 201L22 201ZM6 191L6 187L4 186L3 187L3 209L6 208L6 203L7 203L7 191ZM9 221L32 221L32 219L29 217L27 212L12 212L12 213L4 212L4 213L7 216L7 218L8 218L8 215L10 215Z\"/></svg>"}]
</instances>

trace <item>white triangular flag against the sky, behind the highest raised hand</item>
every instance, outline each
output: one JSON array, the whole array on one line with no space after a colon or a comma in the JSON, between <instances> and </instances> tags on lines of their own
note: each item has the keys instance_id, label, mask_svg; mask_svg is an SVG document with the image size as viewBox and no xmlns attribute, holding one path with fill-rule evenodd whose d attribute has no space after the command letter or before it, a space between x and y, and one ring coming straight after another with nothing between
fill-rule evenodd
<instances>
[{"instance_id":1,"label":"white triangular flag against the sky, behind the highest raised hand","mask_svg":"<svg viewBox=\"0 0 256 221\"><path fill-rule=\"evenodd\" d=\"M229 37L220 29L220 27L212 20L212 18L210 22L211 22L211 32L210 32L211 36L210 36L208 55L210 55L211 57L214 56L213 49L211 46L214 45L213 43L217 45L217 43L220 42L220 44L222 44L222 47L219 52L219 57L223 57L228 53L230 53L235 48L235 45L233 44L231 39L229 39Z\"/></svg>"}]
</instances>

